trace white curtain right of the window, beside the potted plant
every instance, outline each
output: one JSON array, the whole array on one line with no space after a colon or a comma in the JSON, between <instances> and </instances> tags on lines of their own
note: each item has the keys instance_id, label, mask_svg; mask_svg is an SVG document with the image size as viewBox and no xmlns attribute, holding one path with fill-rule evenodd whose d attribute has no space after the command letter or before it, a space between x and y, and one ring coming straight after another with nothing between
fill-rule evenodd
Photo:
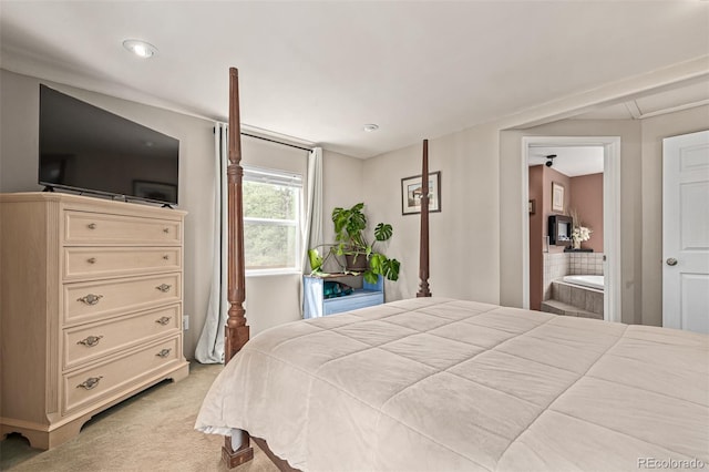
<instances>
[{"instance_id":1,"label":"white curtain right of the window, beside the potted plant","mask_svg":"<svg viewBox=\"0 0 709 472\"><path fill-rule=\"evenodd\" d=\"M302 237L302 271L310 274L308 249L322 244L322 147L315 147L308 155L308 202ZM300 315L302 316L302 286L300 287Z\"/></svg>"}]
</instances>

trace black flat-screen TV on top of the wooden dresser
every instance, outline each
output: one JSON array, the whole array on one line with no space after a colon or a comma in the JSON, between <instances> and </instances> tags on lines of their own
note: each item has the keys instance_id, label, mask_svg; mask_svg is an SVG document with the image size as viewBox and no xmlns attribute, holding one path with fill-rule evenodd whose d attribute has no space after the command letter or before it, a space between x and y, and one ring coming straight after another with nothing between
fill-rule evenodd
<instances>
[{"instance_id":1,"label":"black flat-screen TV on top of the wooden dresser","mask_svg":"<svg viewBox=\"0 0 709 472\"><path fill-rule=\"evenodd\" d=\"M177 204L179 141L40 85L39 183Z\"/></svg>"}]
</instances>

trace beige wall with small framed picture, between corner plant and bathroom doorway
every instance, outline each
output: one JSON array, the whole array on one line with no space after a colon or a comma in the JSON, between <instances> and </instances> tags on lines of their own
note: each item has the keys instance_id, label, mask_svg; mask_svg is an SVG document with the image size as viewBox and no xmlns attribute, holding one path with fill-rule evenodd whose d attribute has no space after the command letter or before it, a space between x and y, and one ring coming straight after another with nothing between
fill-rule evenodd
<instances>
[{"instance_id":1,"label":"beige wall with small framed picture, between corner plant and bathroom doorway","mask_svg":"<svg viewBox=\"0 0 709 472\"><path fill-rule=\"evenodd\" d=\"M422 144L364 162L364 198L377 222L394 228L387 255L401 261L387 299L414 297L419 284L419 217L401 214L401 178L421 174ZM441 212L431 220L431 293L497 302L500 234L497 131L479 126L429 142L429 170L441 172Z\"/></svg>"}]
</instances>

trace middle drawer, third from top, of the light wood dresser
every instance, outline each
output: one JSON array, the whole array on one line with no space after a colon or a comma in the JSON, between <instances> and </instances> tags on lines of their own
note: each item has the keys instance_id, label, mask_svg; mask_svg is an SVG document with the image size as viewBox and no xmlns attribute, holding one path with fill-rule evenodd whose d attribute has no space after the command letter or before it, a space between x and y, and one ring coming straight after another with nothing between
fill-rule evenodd
<instances>
[{"instance_id":1,"label":"middle drawer, third from top, of the light wood dresser","mask_svg":"<svg viewBox=\"0 0 709 472\"><path fill-rule=\"evenodd\" d=\"M89 321L122 311L178 302L182 274L64 284L64 322Z\"/></svg>"}]
</instances>

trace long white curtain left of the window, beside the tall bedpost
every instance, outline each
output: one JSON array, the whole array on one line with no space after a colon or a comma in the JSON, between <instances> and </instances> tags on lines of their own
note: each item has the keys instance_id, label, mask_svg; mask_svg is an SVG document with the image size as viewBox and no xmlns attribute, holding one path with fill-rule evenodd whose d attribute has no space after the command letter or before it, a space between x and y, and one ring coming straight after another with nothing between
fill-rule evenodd
<instances>
[{"instance_id":1,"label":"long white curtain left of the window, beside the tall bedpost","mask_svg":"<svg viewBox=\"0 0 709 472\"><path fill-rule=\"evenodd\" d=\"M212 226L212 288L209 305L195 359L202 363L224 362L224 328L228 318L227 299L227 177L228 160L226 123L215 123L214 127L214 225Z\"/></svg>"}]
</instances>

